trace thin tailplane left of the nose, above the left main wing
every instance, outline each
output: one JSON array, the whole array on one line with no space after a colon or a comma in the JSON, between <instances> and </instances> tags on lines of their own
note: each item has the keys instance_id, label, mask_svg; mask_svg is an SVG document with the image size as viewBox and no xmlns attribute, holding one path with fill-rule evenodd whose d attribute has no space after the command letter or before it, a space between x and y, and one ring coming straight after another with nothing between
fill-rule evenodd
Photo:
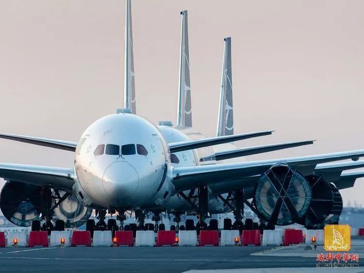
<instances>
[{"instance_id":1,"label":"thin tailplane left of the nose, above the left main wing","mask_svg":"<svg viewBox=\"0 0 364 273\"><path fill-rule=\"evenodd\" d=\"M66 151L74 152L76 150L77 142L56 140L49 138L30 137L15 134L0 134L0 138L15 140L24 143L30 143L34 145L46 146Z\"/></svg>"}]
</instances>

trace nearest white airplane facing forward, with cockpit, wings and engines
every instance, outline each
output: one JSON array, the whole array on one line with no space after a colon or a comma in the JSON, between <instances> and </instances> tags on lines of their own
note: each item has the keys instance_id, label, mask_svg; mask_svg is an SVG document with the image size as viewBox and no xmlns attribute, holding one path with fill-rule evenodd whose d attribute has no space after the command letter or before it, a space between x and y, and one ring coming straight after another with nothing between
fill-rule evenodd
<instances>
[{"instance_id":1,"label":"nearest white airplane facing forward, with cockpit, wings and engines","mask_svg":"<svg viewBox=\"0 0 364 273\"><path fill-rule=\"evenodd\" d=\"M127 2L128 7L130 1ZM267 131L168 143L158 127L132 113L131 102L126 105L127 108L118 109L92 123L77 143L0 134L5 139L75 152L73 168L0 163L0 177L7 180L0 195L0 209L5 217L17 218L20 224L29 222L28 214L24 215L21 207L24 203L31 203L39 212L37 215L42 214L45 220L43 229L50 231L53 228L52 210L67 197L74 196L86 208L116 210L122 228L127 210L173 210L175 208L168 206L171 197L183 196L184 191L195 192L197 189L196 196L183 198L189 200L192 206L196 206L192 198L198 199L198 225L204 229L211 187L215 184L230 187L237 177L261 175L254 185L265 187L267 192L277 197L273 211L286 212L288 209L296 212L288 220L298 222L305 217L312 199L306 176L313 175L320 163L357 160L364 156L364 150L356 150L290 159L173 167L173 153L243 140ZM273 182L265 178L271 173L278 175ZM247 187L251 185L248 183ZM279 194L287 189L286 195ZM65 194L57 194L59 191ZM241 209L244 196L235 187L231 186L230 191L234 194L233 206ZM8 198L5 202L4 197L10 193L11 200ZM263 199L258 201L265 201ZM285 211L276 209L282 204L287 208ZM276 222L288 221L287 215L282 214L278 213ZM31 221L38 223L36 221L39 220Z\"/></svg>"}]
</instances>

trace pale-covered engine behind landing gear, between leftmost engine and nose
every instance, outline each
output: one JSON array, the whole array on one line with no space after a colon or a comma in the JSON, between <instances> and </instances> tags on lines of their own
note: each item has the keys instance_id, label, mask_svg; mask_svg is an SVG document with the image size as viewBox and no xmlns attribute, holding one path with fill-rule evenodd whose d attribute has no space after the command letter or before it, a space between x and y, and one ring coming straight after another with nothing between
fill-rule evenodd
<instances>
[{"instance_id":1,"label":"pale-covered engine behind landing gear, between leftmost engine and nose","mask_svg":"<svg viewBox=\"0 0 364 273\"><path fill-rule=\"evenodd\" d=\"M64 191L52 190L52 195L56 196L57 199L62 198L65 194ZM57 199L53 199L52 206L54 206L54 200ZM84 207L77 197L71 194L53 210L52 220L54 222L63 220L66 228L75 228L85 224L91 213L92 209Z\"/></svg>"}]
</instances>

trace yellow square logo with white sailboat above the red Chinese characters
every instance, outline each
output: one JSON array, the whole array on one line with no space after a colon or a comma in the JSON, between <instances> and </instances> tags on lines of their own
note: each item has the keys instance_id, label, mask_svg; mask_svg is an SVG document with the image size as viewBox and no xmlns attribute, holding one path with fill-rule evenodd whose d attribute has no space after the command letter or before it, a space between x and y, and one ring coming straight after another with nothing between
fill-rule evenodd
<instances>
[{"instance_id":1,"label":"yellow square logo with white sailboat above the red Chinese characters","mask_svg":"<svg viewBox=\"0 0 364 273\"><path fill-rule=\"evenodd\" d=\"M351 248L349 225L326 225L324 227L324 249L326 251L348 251Z\"/></svg>"}]
</instances>

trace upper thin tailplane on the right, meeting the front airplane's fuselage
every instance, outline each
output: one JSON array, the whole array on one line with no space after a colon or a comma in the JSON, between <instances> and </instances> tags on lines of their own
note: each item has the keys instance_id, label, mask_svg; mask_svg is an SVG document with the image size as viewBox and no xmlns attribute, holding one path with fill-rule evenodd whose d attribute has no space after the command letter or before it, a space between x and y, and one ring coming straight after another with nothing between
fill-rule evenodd
<instances>
[{"instance_id":1,"label":"upper thin tailplane on the right, meeting the front airplane's fuselage","mask_svg":"<svg viewBox=\"0 0 364 273\"><path fill-rule=\"evenodd\" d=\"M174 142L170 143L169 150L171 153L181 152L186 150L192 150L207 146L213 146L253 137L265 136L270 135L274 131L261 131L261 132L254 132L254 133L246 133L246 134L236 134L236 135L229 135L229 136L220 136L220 137L210 137L210 138L203 138L198 140L188 140L188 141L181 141L181 142Z\"/></svg>"}]
</instances>

